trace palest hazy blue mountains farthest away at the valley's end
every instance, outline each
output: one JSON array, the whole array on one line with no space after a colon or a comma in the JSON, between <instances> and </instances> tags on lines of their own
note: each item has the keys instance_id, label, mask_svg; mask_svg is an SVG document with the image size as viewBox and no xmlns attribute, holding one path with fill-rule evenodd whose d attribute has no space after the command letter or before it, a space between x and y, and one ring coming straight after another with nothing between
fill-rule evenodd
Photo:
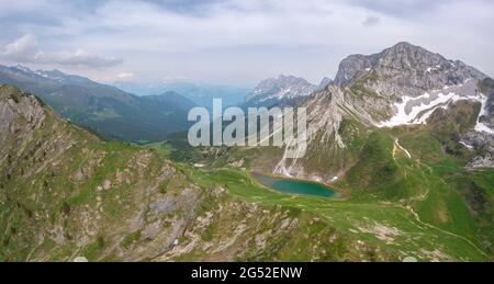
<instances>
[{"instance_id":1,"label":"palest hazy blue mountains farthest away at the valley's end","mask_svg":"<svg viewBox=\"0 0 494 284\"><path fill-rule=\"evenodd\" d=\"M158 83L135 83L126 81L114 82L113 86L137 95L154 95L165 92L177 92L198 105L212 109L213 99L222 99L223 106L236 105L244 102L245 96L250 92L248 88L236 88L228 86L215 86L192 82L158 82Z\"/></svg>"}]
</instances>

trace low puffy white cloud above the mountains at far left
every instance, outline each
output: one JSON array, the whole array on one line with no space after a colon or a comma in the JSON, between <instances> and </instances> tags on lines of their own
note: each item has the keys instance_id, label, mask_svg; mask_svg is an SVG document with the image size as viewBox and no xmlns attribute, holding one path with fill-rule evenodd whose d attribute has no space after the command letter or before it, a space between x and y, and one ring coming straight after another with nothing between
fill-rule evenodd
<instances>
[{"instance_id":1,"label":"low puffy white cloud above the mountains at far left","mask_svg":"<svg viewBox=\"0 0 494 284\"><path fill-rule=\"evenodd\" d=\"M38 48L36 36L32 34L25 34L5 45L0 56L3 59L21 64L83 66L88 68L108 68L123 63L121 58L94 55L80 48L76 52L44 52Z\"/></svg>"}]
</instances>

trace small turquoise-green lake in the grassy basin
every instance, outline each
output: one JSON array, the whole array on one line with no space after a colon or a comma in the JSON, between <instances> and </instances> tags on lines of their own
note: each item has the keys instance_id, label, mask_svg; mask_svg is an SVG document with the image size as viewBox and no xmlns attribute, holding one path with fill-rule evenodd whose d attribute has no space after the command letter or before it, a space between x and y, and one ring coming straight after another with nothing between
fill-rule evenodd
<instances>
[{"instance_id":1,"label":"small turquoise-green lake in the grassy basin","mask_svg":"<svg viewBox=\"0 0 494 284\"><path fill-rule=\"evenodd\" d=\"M334 190L316 182L270 177L261 173L251 173L251 175L260 184L282 193L315 195L319 197L336 196Z\"/></svg>"}]
</instances>

